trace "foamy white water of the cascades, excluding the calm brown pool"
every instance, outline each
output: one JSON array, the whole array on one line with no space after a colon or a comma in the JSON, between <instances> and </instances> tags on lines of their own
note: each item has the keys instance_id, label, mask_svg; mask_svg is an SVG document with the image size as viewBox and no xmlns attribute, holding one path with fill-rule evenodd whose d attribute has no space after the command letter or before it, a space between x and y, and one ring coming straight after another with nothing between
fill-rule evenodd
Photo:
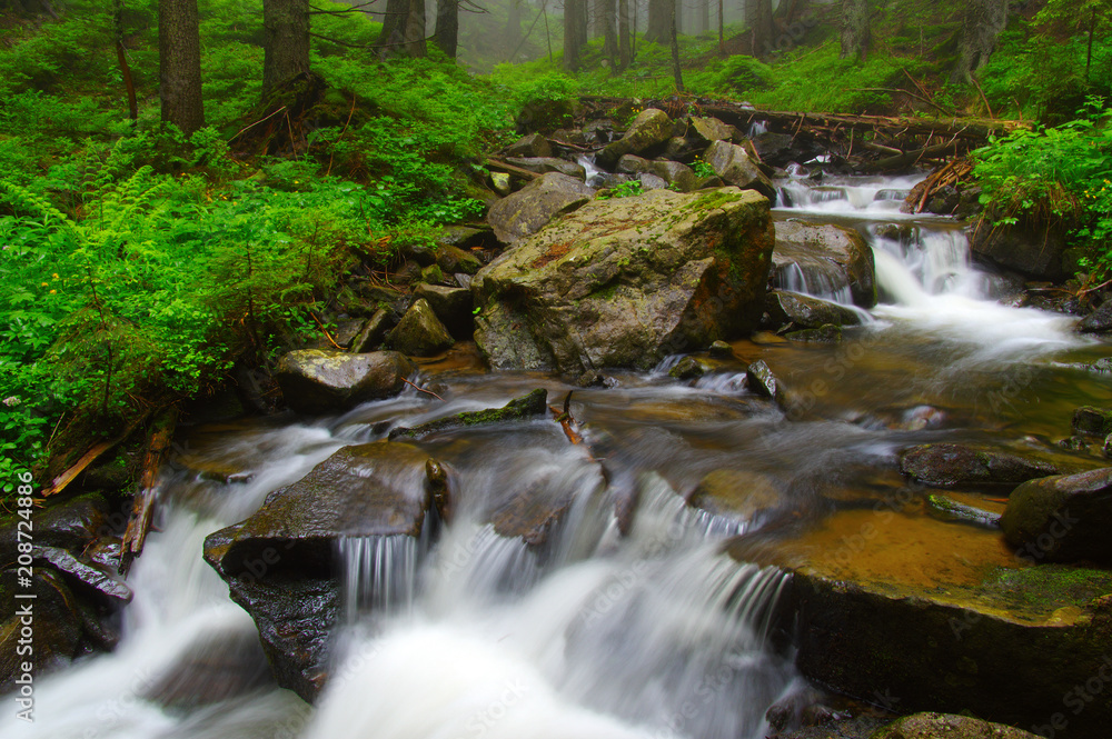
<instances>
[{"instance_id":1,"label":"foamy white water of the cascades, excluding the calm brown pool","mask_svg":"<svg viewBox=\"0 0 1112 739\"><path fill-rule=\"evenodd\" d=\"M793 217L863 223L883 296L866 330L937 343L953 368L966 370L1084 343L1071 332L1069 318L993 300L999 286L970 264L964 236L943 219L915 219L913 236L903 240L875 236L880 222L911 220L897 210L897 194L911 184L827 180L816 188L797 170L784 188L793 208L781 210ZM794 287L824 294L822 286ZM682 400L691 405L739 395L735 380L717 376L666 392L686 393ZM488 395L451 401L433 415L514 397L503 387ZM409 392L360 412L419 422L426 420L421 408L423 400ZM250 459L250 482L206 483L199 502L171 490L162 530L151 535L133 568L136 600L125 611L119 648L39 680L36 722L26 725L6 711L0 735L757 739L768 730L768 706L800 689L791 656L768 645L785 576L721 552L724 538L745 523L693 512L663 477L645 471L634 481L641 498L632 530L620 536L596 468L580 448L563 446L558 427L546 421L544 428L524 425L498 437L497 458L461 471L461 498L470 507L463 507L438 541L341 545L345 625L336 635L331 681L316 708L274 687L193 709L150 700L151 688L207 640L255 638L251 619L201 560L201 542L341 446L369 438L370 423L328 422L232 437L229 443L240 445ZM833 426L808 427L807 439L821 443L824 429ZM837 431L846 439L843 452L886 453L870 432L850 428L852 433ZM646 429L646 445L679 443L675 435L653 433L663 432ZM651 449L647 457L655 453ZM545 552L498 537L478 516L505 480L542 479L540 472L549 489L572 500ZM181 478L175 483L197 487Z\"/></svg>"}]
</instances>

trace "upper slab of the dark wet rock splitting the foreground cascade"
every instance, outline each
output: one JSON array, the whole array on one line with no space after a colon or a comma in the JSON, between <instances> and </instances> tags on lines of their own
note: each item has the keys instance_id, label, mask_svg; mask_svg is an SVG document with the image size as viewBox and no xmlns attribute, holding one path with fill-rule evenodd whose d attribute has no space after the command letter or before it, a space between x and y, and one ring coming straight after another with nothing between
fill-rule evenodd
<instances>
[{"instance_id":1,"label":"upper slab of the dark wet rock splitting the foreground cascade","mask_svg":"<svg viewBox=\"0 0 1112 739\"><path fill-rule=\"evenodd\" d=\"M341 537L418 537L431 506L430 457L400 441L345 447L262 507L205 540L222 577L284 571L327 577Z\"/></svg>"}]
</instances>

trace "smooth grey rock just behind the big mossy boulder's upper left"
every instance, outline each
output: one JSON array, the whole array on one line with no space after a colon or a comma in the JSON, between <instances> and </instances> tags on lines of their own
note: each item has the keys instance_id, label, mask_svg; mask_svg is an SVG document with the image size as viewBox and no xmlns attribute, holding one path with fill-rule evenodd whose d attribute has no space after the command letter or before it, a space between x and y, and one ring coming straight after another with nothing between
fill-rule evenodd
<instances>
[{"instance_id":1,"label":"smooth grey rock just behind the big mossy boulder's upper left","mask_svg":"<svg viewBox=\"0 0 1112 739\"><path fill-rule=\"evenodd\" d=\"M499 241L516 243L539 231L558 213L573 211L594 196L594 188L576 178L548 172L492 206L487 222Z\"/></svg>"}]
</instances>

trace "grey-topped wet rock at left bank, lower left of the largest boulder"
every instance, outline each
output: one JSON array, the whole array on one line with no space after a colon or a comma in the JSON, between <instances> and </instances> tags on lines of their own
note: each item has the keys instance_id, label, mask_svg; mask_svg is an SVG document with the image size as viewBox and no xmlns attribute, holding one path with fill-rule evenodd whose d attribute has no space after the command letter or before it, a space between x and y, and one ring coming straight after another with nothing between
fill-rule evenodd
<instances>
[{"instance_id":1,"label":"grey-topped wet rock at left bank, lower left of the largest boulder","mask_svg":"<svg viewBox=\"0 0 1112 739\"><path fill-rule=\"evenodd\" d=\"M396 351L349 354L301 349L279 360L275 379L294 410L327 413L396 396L416 372L417 366Z\"/></svg>"}]
</instances>

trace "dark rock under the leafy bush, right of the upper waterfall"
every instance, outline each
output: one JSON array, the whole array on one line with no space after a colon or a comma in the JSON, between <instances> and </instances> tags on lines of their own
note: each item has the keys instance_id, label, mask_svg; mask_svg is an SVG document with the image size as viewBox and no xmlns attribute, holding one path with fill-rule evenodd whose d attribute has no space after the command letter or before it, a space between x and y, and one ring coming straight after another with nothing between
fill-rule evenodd
<instances>
[{"instance_id":1,"label":"dark rock under the leafy bush, right of the upper waterfall","mask_svg":"<svg viewBox=\"0 0 1112 739\"><path fill-rule=\"evenodd\" d=\"M970 251L977 261L1051 282L1064 277L1065 246L1065 237L1058 229L1048 230L1025 218L999 227L992 226L991 218L982 218L970 238Z\"/></svg>"}]
</instances>

